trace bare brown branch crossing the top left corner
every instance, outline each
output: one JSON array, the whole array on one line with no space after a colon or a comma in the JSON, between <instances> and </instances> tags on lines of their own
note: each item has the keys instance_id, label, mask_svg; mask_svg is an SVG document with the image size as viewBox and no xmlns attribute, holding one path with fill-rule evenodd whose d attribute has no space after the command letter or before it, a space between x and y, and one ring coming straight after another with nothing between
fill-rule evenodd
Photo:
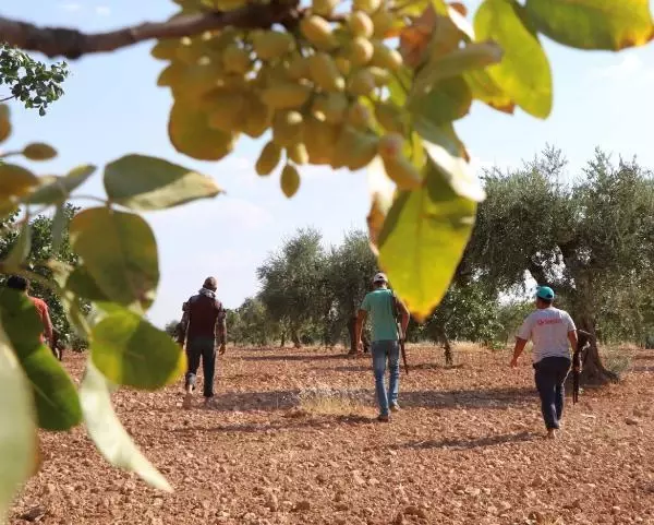
<instances>
[{"instance_id":1,"label":"bare brown branch crossing the top left corner","mask_svg":"<svg viewBox=\"0 0 654 525\"><path fill-rule=\"evenodd\" d=\"M167 22L144 23L121 29L86 34L62 27L37 27L27 22L0 16L0 41L47 57L76 59L94 52L109 52L153 38L181 38L227 26L266 28L275 23L293 23L300 17L296 3L272 1L267 5L249 4L234 11L186 14Z\"/></svg>"}]
</instances>

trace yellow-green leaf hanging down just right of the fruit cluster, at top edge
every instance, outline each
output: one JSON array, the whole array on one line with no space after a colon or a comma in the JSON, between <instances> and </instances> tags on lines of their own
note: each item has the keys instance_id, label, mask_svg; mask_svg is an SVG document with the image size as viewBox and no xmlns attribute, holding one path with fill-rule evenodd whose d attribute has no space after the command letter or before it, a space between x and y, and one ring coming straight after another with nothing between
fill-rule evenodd
<instances>
[{"instance_id":1,"label":"yellow-green leaf hanging down just right of the fruit cluster, at top edge","mask_svg":"<svg viewBox=\"0 0 654 525\"><path fill-rule=\"evenodd\" d=\"M525 25L524 8L514 0L484 0L474 16L480 40L504 50L501 62L487 68L499 88L526 112L546 118L552 111L552 71L536 33Z\"/></svg>"}]
</instances>

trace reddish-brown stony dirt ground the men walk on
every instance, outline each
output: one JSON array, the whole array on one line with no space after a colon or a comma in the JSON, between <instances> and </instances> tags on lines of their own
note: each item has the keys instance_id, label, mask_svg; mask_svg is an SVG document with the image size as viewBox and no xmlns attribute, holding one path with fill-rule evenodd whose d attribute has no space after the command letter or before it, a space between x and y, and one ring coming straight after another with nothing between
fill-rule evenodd
<instances>
[{"instance_id":1,"label":"reddish-brown stony dirt ground the men walk on","mask_svg":"<svg viewBox=\"0 0 654 525\"><path fill-rule=\"evenodd\" d=\"M230 348L218 407L181 407L181 383L120 390L117 411L175 491L110 467L84 429L43 435L44 464L11 523L654 524L654 353L620 385L567 405L546 441L523 358L410 349L402 410L374 420L367 358L340 349ZM83 357L68 354L80 378Z\"/></svg>"}]
</instances>

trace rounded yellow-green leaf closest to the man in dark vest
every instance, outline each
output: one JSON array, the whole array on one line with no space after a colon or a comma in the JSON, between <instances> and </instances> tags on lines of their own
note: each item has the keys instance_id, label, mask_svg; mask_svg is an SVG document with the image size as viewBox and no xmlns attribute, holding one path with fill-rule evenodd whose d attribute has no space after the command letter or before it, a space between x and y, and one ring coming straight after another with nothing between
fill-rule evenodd
<instances>
[{"instance_id":1,"label":"rounded yellow-green leaf closest to the man in dark vest","mask_svg":"<svg viewBox=\"0 0 654 525\"><path fill-rule=\"evenodd\" d=\"M130 310L104 315L90 333L94 365L117 384L156 390L175 381L185 355L166 332Z\"/></svg>"}]
</instances>

